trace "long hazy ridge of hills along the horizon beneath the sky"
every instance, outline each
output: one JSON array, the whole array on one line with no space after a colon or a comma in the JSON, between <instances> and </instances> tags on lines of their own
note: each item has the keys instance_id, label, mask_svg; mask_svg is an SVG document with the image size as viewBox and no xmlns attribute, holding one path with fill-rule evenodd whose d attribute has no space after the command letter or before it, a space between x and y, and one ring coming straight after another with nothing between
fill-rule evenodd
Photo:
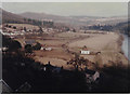
<instances>
[{"instance_id":1,"label":"long hazy ridge of hills along the horizon beneath the sky","mask_svg":"<svg viewBox=\"0 0 130 94\"><path fill-rule=\"evenodd\" d=\"M3 23L6 23L6 22L25 23L24 18L31 18L37 21L51 19L57 25L66 25L66 26L76 27L76 28L80 26L98 25L98 24L116 25L121 22L127 22L126 16L113 16L113 17L96 17L96 16L84 16L84 15L83 16L60 16L60 15L34 13L34 12L14 14L11 12L6 12L4 10L2 10L2 12L0 13L2 14Z\"/></svg>"}]
</instances>

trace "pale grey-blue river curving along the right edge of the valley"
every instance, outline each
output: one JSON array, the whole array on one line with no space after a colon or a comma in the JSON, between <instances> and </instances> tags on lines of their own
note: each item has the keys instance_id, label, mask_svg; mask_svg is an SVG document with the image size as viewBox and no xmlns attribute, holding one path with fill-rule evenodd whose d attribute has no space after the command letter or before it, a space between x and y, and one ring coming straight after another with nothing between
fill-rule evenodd
<instances>
[{"instance_id":1,"label":"pale grey-blue river curving along the right edge of the valley","mask_svg":"<svg viewBox=\"0 0 130 94\"><path fill-rule=\"evenodd\" d=\"M128 59L130 61L130 51L129 51L129 46L130 46L130 37L128 37L127 35L123 35L123 42L122 42L122 51L125 53L125 55L128 57Z\"/></svg>"}]
</instances>

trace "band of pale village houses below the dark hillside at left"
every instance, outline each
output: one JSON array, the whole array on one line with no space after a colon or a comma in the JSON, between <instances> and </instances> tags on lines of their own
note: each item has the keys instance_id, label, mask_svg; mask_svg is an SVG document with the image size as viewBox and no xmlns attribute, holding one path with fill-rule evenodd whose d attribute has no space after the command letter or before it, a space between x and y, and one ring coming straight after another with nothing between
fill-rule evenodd
<instances>
[{"instance_id":1,"label":"band of pale village houses below the dark hillside at left","mask_svg":"<svg viewBox=\"0 0 130 94\"><path fill-rule=\"evenodd\" d=\"M9 24L3 24L0 27L1 33L5 35L5 36L23 36L25 33L41 33L41 32L46 32L46 33L50 33L50 32L54 32L54 31L65 31L66 27L62 27L62 28L52 28L52 27L42 27L42 28L27 28L27 27L17 27L15 25L9 25ZM68 30L74 30L74 29L69 29Z\"/></svg>"}]
</instances>

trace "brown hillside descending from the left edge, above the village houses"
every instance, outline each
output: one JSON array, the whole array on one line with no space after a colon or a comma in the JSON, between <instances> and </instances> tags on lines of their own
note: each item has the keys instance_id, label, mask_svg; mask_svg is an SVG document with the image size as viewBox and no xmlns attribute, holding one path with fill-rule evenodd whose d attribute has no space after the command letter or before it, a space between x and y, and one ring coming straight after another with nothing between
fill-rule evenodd
<instances>
[{"instance_id":1,"label":"brown hillside descending from the left edge, above the village houses","mask_svg":"<svg viewBox=\"0 0 130 94\"><path fill-rule=\"evenodd\" d=\"M42 22L39 19L34 19L34 18L27 18L23 17L18 14L14 14L11 12L6 12L2 9L0 9L0 19L2 21L2 24L4 23L11 23L11 24L31 24L36 26L42 26ZM44 21L46 23L46 21ZM44 25L46 26L46 25ZM48 22L48 26L53 26L53 22Z\"/></svg>"}]
</instances>

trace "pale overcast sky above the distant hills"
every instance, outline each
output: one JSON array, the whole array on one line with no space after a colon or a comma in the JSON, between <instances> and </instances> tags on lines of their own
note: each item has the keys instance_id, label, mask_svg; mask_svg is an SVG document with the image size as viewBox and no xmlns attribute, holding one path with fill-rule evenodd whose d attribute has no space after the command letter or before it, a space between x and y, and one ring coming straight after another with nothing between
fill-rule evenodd
<instances>
[{"instance_id":1,"label":"pale overcast sky above the distant hills","mask_svg":"<svg viewBox=\"0 0 130 94\"><path fill-rule=\"evenodd\" d=\"M127 2L3 2L2 8L13 13L38 12L63 16L128 15Z\"/></svg>"}]
</instances>

